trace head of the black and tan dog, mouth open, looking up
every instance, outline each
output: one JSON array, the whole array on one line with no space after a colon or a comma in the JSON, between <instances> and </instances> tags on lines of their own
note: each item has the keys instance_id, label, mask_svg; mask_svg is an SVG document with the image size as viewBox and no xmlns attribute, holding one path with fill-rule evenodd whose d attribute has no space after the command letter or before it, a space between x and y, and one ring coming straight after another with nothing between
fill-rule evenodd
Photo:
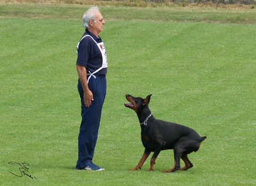
<instances>
[{"instance_id":1,"label":"head of the black and tan dog, mouth open, looking up","mask_svg":"<svg viewBox=\"0 0 256 186\"><path fill-rule=\"evenodd\" d=\"M135 98L129 94L126 94L125 97L128 101L130 101L130 103L125 103L124 106L133 109L138 114L138 111L148 106L151 96L152 95L150 94L147 96L147 98L143 99L140 97Z\"/></svg>"}]
</instances>

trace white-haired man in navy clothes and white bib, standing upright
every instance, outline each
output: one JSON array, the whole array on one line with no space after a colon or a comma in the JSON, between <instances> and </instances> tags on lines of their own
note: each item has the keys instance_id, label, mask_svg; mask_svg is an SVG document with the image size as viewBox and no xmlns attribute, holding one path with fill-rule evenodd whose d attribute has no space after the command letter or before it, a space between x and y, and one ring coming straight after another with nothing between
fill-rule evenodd
<instances>
[{"instance_id":1,"label":"white-haired man in navy clothes and white bib, standing upright","mask_svg":"<svg viewBox=\"0 0 256 186\"><path fill-rule=\"evenodd\" d=\"M92 163L98 138L101 110L106 96L107 55L99 33L105 21L98 7L91 7L83 15L86 29L77 46L78 91L81 98L81 126L78 136L76 169L102 171Z\"/></svg>"}]
</instances>

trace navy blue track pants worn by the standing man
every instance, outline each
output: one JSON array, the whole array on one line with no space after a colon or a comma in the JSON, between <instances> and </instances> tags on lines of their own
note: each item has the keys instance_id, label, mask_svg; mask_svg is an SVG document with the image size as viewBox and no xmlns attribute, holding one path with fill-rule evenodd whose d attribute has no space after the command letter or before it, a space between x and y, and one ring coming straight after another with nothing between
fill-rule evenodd
<instances>
[{"instance_id":1,"label":"navy blue track pants worn by the standing man","mask_svg":"<svg viewBox=\"0 0 256 186\"><path fill-rule=\"evenodd\" d=\"M98 138L101 110L106 96L106 76L95 75L88 82L88 87L93 94L91 106L86 107L83 100L83 88L78 81L78 91L81 98L82 122L78 136L78 161L76 169L84 169L92 162ZM88 76L87 76L88 78Z\"/></svg>"}]
</instances>

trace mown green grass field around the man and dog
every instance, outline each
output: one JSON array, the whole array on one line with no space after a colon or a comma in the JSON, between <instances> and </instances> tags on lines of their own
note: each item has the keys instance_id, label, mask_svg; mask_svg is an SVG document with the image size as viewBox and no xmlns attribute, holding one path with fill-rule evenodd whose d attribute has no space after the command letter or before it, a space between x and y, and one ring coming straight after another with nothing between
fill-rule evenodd
<instances>
[{"instance_id":1,"label":"mown green grass field around the man and dog","mask_svg":"<svg viewBox=\"0 0 256 186\"><path fill-rule=\"evenodd\" d=\"M0 185L255 185L255 10L100 8L109 68L94 162L105 171L88 172L75 170L75 50L88 6L0 4ZM169 150L154 172L149 159L128 170L144 148L127 93L152 94L156 118L207 136L192 169L161 173ZM37 179L11 174L21 174L13 161Z\"/></svg>"}]
</instances>

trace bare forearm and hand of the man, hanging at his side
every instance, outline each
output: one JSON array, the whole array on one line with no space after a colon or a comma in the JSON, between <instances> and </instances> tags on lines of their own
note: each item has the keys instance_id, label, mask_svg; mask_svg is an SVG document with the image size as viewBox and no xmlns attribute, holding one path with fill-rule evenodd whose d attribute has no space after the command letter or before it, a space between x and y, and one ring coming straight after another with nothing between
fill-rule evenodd
<instances>
[{"instance_id":1,"label":"bare forearm and hand of the man, hanging at his side","mask_svg":"<svg viewBox=\"0 0 256 186\"><path fill-rule=\"evenodd\" d=\"M86 107L89 107L91 106L91 101L93 101L93 95L87 84L86 67L76 64L76 69L78 70L78 77L83 88L84 104L86 105Z\"/></svg>"}]
</instances>

